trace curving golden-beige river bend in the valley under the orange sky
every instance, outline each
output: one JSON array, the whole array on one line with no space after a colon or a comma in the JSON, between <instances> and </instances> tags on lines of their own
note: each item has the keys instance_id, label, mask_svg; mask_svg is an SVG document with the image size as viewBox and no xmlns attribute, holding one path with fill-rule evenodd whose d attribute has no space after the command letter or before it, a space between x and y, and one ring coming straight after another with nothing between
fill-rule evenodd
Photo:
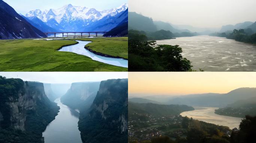
<instances>
[{"instance_id":1,"label":"curving golden-beige river bend in the valley under the orange sky","mask_svg":"<svg viewBox=\"0 0 256 143\"><path fill-rule=\"evenodd\" d=\"M180 115L187 116L195 120L205 121L216 125L228 126L230 129L238 128L243 118L223 116L215 114L215 107L194 107L193 111L182 112Z\"/></svg>"}]
</instances>

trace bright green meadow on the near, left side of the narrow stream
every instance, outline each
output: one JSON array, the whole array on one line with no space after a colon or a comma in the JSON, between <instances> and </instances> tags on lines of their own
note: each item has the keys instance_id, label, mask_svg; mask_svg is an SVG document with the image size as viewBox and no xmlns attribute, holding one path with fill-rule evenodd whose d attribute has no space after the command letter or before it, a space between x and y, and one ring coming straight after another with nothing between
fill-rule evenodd
<instances>
[{"instance_id":1,"label":"bright green meadow on the near, left side of the narrow stream","mask_svg":"<svg viewBox=\"0 0 256 143\"><path fill-rule=\"evenodd\" d=\"M111 43L114 40L106 38L106 41ZM101 45L100 39L94 42ZM57 51L76 43L73 40L0 40L0 71L128 71L127 68L94 61L84 55ZM116 42L112 45L123 46Z\"/></svg>"}]
</instances>

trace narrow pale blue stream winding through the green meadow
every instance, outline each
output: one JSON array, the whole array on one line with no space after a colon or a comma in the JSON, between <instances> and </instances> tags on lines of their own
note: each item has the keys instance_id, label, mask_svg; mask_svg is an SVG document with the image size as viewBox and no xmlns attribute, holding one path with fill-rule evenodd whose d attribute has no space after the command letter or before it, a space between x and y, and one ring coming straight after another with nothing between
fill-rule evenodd
<instances>
[{"instance_id":1,"label":"narrow pale blue stream winding through the green meadow","mask_svg":"<svg viewBox=\"0 0 256 143\"><path fill-rule=\"evenodd\" d=\"M128 67L128 60L122 59L122 58L110 58L110 57L104 57L101 55L96 55L89 50L85 49L85 45L90 43L89 41L78 41L78 44L65 46L61 48L59 51L66 51L66 52L73 52L80 55L86 55L87 57L92 58L92 60L100 61L102 63L111 64L114 66L119 67Z\"/></svg>"}]
</instances>

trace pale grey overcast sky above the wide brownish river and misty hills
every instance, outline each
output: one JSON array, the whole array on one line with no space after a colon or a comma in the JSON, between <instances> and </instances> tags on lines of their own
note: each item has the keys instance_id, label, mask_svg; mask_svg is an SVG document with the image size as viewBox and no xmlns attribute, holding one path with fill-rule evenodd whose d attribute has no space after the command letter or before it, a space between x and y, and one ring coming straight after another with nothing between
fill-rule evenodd
<instances>
[{"instance_id":1,"label":"pale grey overcast sky above the wide brownish river and misty hills","mask_svg":"<svg viewBox=\"0 0 256 143\"><path fill-rule=\"evenodd\" d=\"M129 11L180 25L221 27L256 21L256 0L129 0Z\"/></svg>"}]
</instances>

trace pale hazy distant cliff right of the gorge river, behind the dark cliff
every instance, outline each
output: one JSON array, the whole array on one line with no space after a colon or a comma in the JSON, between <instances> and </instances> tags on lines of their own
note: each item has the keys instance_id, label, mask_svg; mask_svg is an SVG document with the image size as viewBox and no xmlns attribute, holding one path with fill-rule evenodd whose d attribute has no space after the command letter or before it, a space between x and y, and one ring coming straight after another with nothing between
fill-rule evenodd
<instances>
[{"instance_id":1,"label":"pale hazy distant cliff right of the gorge river, behind the dark cliff","mask_svg":"<svg viewBox=\"0 0 256 143\"><path fill-rule=\"evenodd\" d=\"M72 83L61 97L61 102L73 109L86 110L94 101L99 87L100 82Z\"/></svg>"}]
</instances>

